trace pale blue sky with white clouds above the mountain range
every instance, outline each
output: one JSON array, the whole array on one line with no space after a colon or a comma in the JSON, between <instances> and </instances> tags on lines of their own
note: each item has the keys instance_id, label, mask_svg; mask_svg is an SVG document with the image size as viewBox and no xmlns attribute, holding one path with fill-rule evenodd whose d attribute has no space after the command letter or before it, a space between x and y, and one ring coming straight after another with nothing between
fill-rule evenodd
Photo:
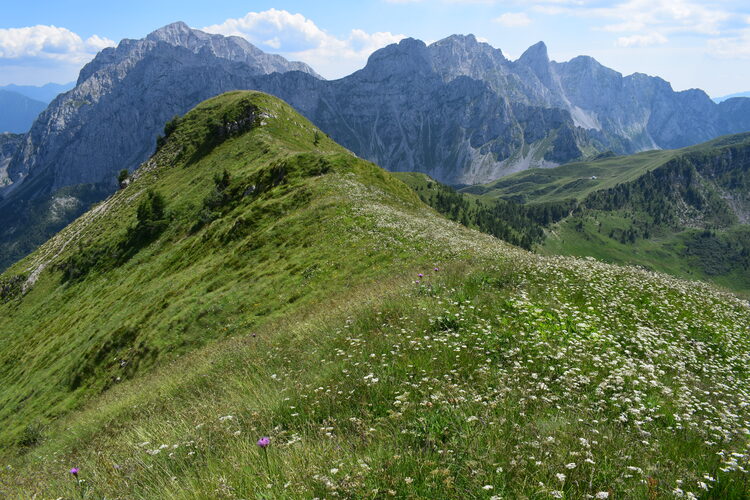
<instances>
[{"instance_id":1,"label":"pale blue sky with white clouds above the mountain range","mask_svg":"<svg viewBox=\"0 0 750 500\"><path fill-rule=\"evenodd\" d=\"M330 79L404 37L471 33L510 59L541 40L556 61L589 55L675 90L750 90L747 0L4 0L0 85L74 81L98 51L174 21L243 36Z\"/></svg>"}]
</instances>

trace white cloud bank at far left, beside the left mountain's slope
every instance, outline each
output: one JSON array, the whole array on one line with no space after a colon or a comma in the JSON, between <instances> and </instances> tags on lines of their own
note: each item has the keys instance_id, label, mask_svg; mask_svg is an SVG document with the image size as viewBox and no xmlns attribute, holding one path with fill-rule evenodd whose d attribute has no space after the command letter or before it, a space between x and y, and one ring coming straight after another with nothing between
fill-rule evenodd
<instances>
[{"instance_id":1,"label":"white cloud bank at far left, beside the left mountain's slope","mask_svg":"<svg viewBox=\"0 0 750 500\"><path fill-rule=\"evenodd\" d=\"M51 59L82 64L114 44L98 35L83 40L69 29L57 26L0 29L0 59Z\"/></svg>"}]
</instances>

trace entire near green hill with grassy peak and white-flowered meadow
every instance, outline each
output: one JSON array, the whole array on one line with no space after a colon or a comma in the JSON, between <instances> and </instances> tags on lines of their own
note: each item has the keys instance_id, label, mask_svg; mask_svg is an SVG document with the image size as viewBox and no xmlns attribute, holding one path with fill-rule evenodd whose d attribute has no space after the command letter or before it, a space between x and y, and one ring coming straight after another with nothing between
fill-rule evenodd
<instances>
[{"instance_id":1,"label":"entire near green hill with grassy peak and white-flowered meadow","mask_svg":"<svg viewBox=\"0 0 750 500\"><path fill-rule=\"evenodd\" d=\"M159 142L0 277L0 497L750 494L747 302L467 229L264 94Z\"/></svg>"}]
</instances>

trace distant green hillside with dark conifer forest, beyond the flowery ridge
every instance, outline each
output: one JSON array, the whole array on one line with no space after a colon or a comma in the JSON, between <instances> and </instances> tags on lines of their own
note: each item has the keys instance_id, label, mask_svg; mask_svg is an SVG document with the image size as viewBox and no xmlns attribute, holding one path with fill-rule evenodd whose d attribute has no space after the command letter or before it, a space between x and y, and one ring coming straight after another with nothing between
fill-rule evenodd
<instances>
[{"instance_id":1,"label":"distant green hillside with dark conifer forest, beyond the flowery ridge","mask_svg":"<svg viewBox=\"0 0 750 500\"><path fill-rule=\"evenodd\" d=\"M458 192L397 175L450 219L523 248L750 295L750 134L533 169Z\"/></svg>"}]
</instances>

